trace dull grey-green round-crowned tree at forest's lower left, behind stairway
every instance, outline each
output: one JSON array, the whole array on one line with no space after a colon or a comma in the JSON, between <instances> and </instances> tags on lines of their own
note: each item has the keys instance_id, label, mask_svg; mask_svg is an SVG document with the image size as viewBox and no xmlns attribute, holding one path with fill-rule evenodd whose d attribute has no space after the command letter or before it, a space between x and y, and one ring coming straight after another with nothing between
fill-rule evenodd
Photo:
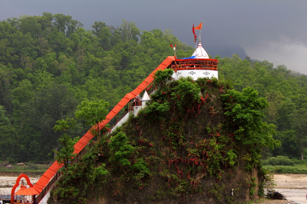
<instances>
[{"instance_id":1,"label":"dull grey-green round-crowned tree at forest's lower left, behind stairway","mask_svg":"<svg viewBox=\"0 0 307 204\"><path fill-rule=\"evenodd\" d=\"M41 78L41 81L46 80ZM74 97L71 88L66 84L59 84L55 81L41 84L37 90L34 100L30 100L23 106L25 110L25 122L30 123L36 130L43 133L40 137L42 146L48 145L55 149L54 157L58 151L59 133L53 129L59 119L72 117L78 101ZM44 155L48 154L49 148L42 148ZM49 152L50 153L50 152Z\"/></svg>"}]
</instances>

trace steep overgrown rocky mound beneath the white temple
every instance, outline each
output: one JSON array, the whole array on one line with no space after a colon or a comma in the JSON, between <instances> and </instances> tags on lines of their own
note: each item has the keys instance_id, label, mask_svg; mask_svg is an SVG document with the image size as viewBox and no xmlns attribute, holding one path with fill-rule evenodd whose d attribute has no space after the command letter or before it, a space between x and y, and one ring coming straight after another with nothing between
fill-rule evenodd
<instances>
[{"instance_id":1,"label":"steep overgrown rocky mound beneath the white temple","mask_svg":"<svg viewBox=\"0 0 307 204\"><path fill-rule=\"evenodd\" d=\"M145 110L64 172L49 203L243 203L257 198L262 193L257 158L266 144L258 126L245 125L258 124L260 100L251 89L240 95L228 87L216 79L161 86ZM242 110L249 119L240 121Z\"/></svg>"}]
</instances>

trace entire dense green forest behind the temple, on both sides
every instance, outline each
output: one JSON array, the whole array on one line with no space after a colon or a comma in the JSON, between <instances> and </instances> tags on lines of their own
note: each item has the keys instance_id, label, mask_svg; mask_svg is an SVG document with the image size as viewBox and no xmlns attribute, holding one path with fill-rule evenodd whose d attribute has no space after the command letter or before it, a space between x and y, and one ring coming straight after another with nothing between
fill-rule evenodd
<instances>
[{"instance_id":1,"label":"entire dense green forest behind the temple, on both sides","mask_svg":"<svg viewBox=\"0 0 307 204\"><path fill-rule=\"evenodd\" d=\"M173 55L169 44L176 43L178 58L194 51L171 30L141 32L125 20L120 27L101 21L91 30L82 26L71 16L52 13L0 21L0 160L53 160L57 120L73 118L84 100L101 99L114 107ZM282 146L264 156L301 158L307 146L306 75L249 57L215 58L219 77L231 80L235 90L250 86L266 97L265 120L276 126ZM78 121L70 134L82 136L87 129Z\"/></svg>"}]
</instances>

